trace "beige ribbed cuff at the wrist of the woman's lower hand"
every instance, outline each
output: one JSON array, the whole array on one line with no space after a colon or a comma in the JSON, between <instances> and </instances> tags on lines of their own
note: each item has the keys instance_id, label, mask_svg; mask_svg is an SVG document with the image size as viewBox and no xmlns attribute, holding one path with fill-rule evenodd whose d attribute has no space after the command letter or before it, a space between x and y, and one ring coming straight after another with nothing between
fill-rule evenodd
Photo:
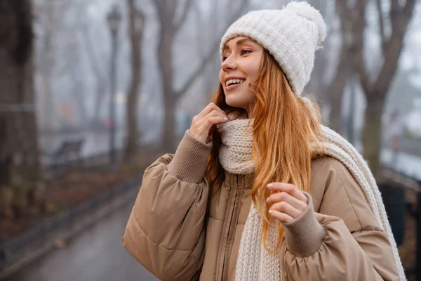
<instances>
[{"instance_id":1,"label":"beige ribbed cuff at the wrist of the woman's lower hand","mask_svg":"<svg viewBox=\"0 0 421 281\"><path fill-rule=\"evenodd\" d=\"M307 210L292 223L283 225L288 251L300 258L312 256L327 235L326 229L317 221L312 195L303 193L309 199Z\"/></svg>"}]
</instances>

